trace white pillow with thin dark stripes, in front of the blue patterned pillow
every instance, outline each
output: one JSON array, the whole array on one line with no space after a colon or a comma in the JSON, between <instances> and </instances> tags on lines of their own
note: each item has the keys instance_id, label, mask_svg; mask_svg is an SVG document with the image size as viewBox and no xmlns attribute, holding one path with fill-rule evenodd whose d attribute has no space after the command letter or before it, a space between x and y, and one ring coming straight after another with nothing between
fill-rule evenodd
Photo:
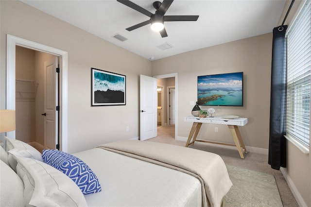
<instances>
[{"instance_id":1,"label":"white pillow with thin dark stripes, in front of the blue patterned pillow","mask_svg":"<svg viewBox=\"0 0 311 207\"><path fill-rule=\"evenodd\" d=\"M11 150L9 153L15 152ZM18 161L17 173L24 179L24 191L31 190L35 183L30 205L37 207L87 206L81 190L67 175L44 162L18 155L14 156ZM29 196L27 193L24 194Z\"/></svg>"}]
</instances>

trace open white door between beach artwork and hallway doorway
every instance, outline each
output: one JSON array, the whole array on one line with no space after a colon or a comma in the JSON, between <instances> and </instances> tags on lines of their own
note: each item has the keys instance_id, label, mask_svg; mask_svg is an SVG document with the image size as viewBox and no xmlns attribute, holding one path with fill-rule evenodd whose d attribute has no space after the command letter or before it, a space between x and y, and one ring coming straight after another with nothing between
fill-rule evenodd
<instances>
[{"instance_id":1,"label":"open white door between beach artwork and hallway doorway","mask_svg":"<svg viewBox=\"0 0 311 207\"><path fill-rule=\"evenodd\" d=\"M140 75L140 140L154 138L157 135L157 92L156 79Z\"/></svg>"}]
</instances>

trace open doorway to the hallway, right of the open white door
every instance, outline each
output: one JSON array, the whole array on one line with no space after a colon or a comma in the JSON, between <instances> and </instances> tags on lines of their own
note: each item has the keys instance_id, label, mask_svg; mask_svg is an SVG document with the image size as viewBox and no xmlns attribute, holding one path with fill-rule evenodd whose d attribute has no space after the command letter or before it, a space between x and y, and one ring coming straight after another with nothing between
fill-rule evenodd
<instances>
[{"instance_id":1,"label":"open doorway to the hallway, right of the open white door","mask_svg":"<svg viewBox=\"0 0 311 207\"><path fill-rule=\"evenodd\" d=\"M177 122L175 122L175 120L177 119L177 73L158 75L154 77L157 79L158 97L161 98L161 103L158 102L157 108L158 136L163 134L163 137L176 139Z\"/></svg>"}]
</instances>

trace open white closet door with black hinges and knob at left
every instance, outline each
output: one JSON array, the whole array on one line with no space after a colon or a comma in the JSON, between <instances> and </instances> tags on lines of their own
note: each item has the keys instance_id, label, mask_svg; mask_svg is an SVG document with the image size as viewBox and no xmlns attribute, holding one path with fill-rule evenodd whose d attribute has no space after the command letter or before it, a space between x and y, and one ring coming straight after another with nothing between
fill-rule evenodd
<instances>
[{"instance_id":1,"label":"open white closet door with black hinges and knob at left","mask_svg":"<svg viewBox=\"0 0 311 207\"><path fill-rule=\"evenodd\" d=\"M44 62L44 146L49 149L56 149L58 144L58 57Z\"/></svg>"}]
</instances>

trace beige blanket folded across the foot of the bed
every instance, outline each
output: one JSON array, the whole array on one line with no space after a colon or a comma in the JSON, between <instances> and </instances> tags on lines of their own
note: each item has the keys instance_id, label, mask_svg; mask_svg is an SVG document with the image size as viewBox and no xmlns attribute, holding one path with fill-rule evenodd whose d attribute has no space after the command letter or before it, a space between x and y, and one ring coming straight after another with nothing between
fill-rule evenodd
<instances>
[{"instance_id":1,"label":"beige blanket folded across the foot of the bed","mask_svg":"<svg viewBox=\"0 0 311 207\"><path fill-rule=\"evenodd\" d=\"M98 147L197 177L202 183L202 200L205 207L220 207L223 197L232 186L223 159L213 153L138 140L122 140Z\"/></svg>"}]
</instances>

